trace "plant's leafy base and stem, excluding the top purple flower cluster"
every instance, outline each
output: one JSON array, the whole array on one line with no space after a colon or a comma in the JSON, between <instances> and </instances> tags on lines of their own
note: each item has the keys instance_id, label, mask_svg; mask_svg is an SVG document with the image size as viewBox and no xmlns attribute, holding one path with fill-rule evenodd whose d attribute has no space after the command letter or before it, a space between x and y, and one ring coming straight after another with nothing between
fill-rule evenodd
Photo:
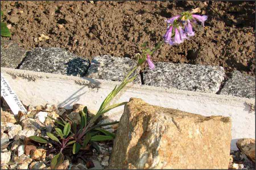
<instances>
[{"instance_id":1,"label":"plant's leafy base and stem, excluding the top purple flower cluster","mask_svg":"<svg viewBox=\"0 0 256 170\"><path fill-rule=\"evenodd\" d=\"M146 47L146 45L143 45ZM65 148L71 148L72 146L72 152L73 154L77 154L81 148L86 148L88 143L92 144L93 147L97 149L97 145L94 142L100 142L100 141L109 141L114 139L115 135L113 133L110 133L107 130L100 129L101 126L107 126L112 124L117 124L118 122L110 122L108 124L100 124L100 125L94 125L96 120L104 113L110 111L111 109L114 109L116 107L119 107L121 105L125 105L127 102L118 103L114 105L108 106L110 101L118 94L119 91L122 90L123 87L125 87L128 83L133 82L133 80L136 78L137 75L131 76L135 70L138 69L139 66L141 66L145 61L147 61L148 66L150 69L154 69L154 63L152 63L150 59L150 55L155 52L156 49L158 49L160 45L157 45L152 51L150 49L144 49L142 54L136 54L136 57L138 58L137 65L127 74L123 82L117 87L115 86L114 90L110 92L110 94L106 97L106 99L102 102L100 109L98 109L98 112L95 116L89 117L88 116L88 109L85 107L82 111L80 111L80 123L76 124L73 122L70 118L68 118L68 121L65 121L64 118L61 118L61 121L55 120L57 124L59 124L59 128L55 128L55 132L47 133L47 136L49 139L44 137L38 137L38 136L31 136L29 137L35 142L39 143L51 143L53 147L48 150L48 154L50 152L56 152L54 158L51 161L51 168L55 169L57 168L64 160L63 150Z\"/></svg>"}]
</instances>

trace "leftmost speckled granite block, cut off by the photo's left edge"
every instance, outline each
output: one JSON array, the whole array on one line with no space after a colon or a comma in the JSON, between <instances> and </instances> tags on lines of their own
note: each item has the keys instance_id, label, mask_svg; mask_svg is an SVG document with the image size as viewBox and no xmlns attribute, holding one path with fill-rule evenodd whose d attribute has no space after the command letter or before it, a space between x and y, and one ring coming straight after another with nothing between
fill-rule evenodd
<instances>
[{"instance_id":1,"label":"leftmost speckled granite block, cut off by the photo's left edge","mask_svg":"<svg viewBox=\"0 0 256 170\"><path fill-rule=\"evenodd\" d=\"M1 39L1 67L16 69L26 56L26 50L17 43Z\"/></svg>"}]
</instances>

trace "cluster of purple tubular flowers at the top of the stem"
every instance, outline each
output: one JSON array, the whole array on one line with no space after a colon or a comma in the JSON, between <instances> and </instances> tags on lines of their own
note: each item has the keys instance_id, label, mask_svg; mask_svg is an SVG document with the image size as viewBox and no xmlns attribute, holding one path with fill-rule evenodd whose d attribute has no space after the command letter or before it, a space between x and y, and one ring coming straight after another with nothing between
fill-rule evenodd
<instances>
[{"instance_id":1,"label":"cluster of purple tubular flowers at the top of the stem","mask_svg":"<svg viewBox=\"0 0 256 170\"><path fill-rule=\"evenodd\" d=\"M204 26L207 18L207 15L194 15L192 12L186 11L182 12L181 15L166 20L168 27L164 35L164 41L170 45L177 45L184 42L185 39L189 39L189 37L195 35L192 23L196 23L196 20L198 20Z\"/></svg>"}]
</instances>

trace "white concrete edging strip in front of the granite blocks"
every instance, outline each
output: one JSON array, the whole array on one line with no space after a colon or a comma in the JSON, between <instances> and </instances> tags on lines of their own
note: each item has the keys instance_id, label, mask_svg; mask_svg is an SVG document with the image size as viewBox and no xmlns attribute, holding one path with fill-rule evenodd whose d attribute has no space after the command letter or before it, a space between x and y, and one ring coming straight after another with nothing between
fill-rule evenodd
<instances>
[{"instance_id":1,"label":"white concrete edging strip in front of the granite blocks","mask_svg":"<svg viewBox=\"0 0 256 170\"><path fill-rule=\"evenodd\" d=\"M88 109L94 113L114 86L120 83L3 67L1 73L26 105L49 103L69 109L73 104L79 103L88 106ZM237 139L255 138L253 99L129 84L115 97L112 104L129 101L130 97L141 98L152 105L203 116L231 117L233 150L237 150ZM119 120L122 113L123 106L113 109L105 116L111 120Z\"/></svg>"}]
</instances>

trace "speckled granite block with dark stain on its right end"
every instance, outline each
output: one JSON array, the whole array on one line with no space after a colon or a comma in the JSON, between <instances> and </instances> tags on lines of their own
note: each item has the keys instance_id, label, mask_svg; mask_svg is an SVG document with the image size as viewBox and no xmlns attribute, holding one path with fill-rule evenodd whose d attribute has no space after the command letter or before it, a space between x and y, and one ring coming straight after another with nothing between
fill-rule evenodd
<instances>
[{"instance_id":1,"label":"speckled granite block with dark stain on its right end","mask_svg":"<svg viewBox=\"0 0 256 170\"><path fill-rule=\"evenodd\" d=\"M82 59L64 49L35 48L28 53L20 69L84 76L88 67L89 59Z\"/></svg>"}]
</instances>

